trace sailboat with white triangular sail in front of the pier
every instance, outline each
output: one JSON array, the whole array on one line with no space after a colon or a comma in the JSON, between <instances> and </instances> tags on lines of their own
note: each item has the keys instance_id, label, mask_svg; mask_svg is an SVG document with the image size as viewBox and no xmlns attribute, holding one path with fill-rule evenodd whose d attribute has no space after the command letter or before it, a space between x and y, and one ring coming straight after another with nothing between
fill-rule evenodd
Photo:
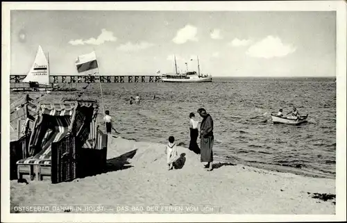
<instances>
[{"instance_id":1,"label":"sailboat with white triangular sail in front of the pier","mask_svg":"<svg viewBox=\"0 0 347 223\"><path fill-rule=\"evenodd\" d=\"M29 70L22 83L28 83L28 85L15 85L10 90L14 92L26 92L26 91L51 91L51 90L76 90L76 88L60 88L59 85L53 84L50 81L50 67L49 67L49 54L47 53L48 60L44 55L42 47L39 46L35 56L33 65Z\"/></svg>"}]
</instances>

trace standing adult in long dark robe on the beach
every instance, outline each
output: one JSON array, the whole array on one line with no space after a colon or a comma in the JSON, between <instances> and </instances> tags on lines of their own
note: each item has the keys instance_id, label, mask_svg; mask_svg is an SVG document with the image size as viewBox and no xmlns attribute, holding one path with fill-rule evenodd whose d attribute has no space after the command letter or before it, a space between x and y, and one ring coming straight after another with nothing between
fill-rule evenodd
<instances>
[{"instance_id":1,"label":"standing adult in long dark robe on the beach","mask_svg":"<svg viewBox=\"0 0 347 223\"><path fill-rule=\"evenodd\" d=\"M206 112L204 108L199 108L198 113L201 117L203 117L203 121L201 121L200 125L200 149L201 149L201 162L208 162L205 165L205 168L208 168L208 171L212 171L212 163L213 163L213 119L210 114Z\"/></svg>"}]
</instances>

